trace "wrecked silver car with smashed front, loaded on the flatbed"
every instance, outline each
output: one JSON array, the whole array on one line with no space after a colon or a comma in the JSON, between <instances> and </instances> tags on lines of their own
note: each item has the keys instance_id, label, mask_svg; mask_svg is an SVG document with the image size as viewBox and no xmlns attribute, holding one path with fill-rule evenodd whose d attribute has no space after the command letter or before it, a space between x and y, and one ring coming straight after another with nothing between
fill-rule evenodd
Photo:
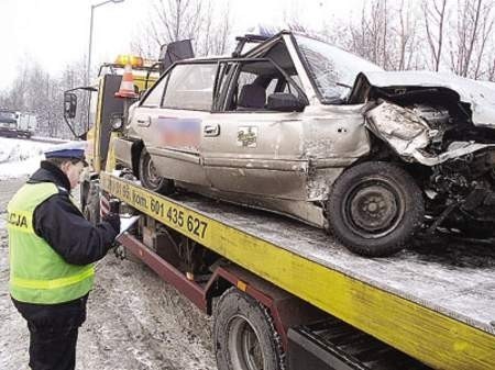
<instances>
[{"instance_id":1,"label":"wrecked silver car with smashed front, loaded on the flatbed","mask_svg":"<svg viewBox=\"0 0 495 370\"><path fill-rule=\"evenodd\" d=\"M175 63L131 106L114 149L155 191L282 213L386 256L420 229L493 235L494 127L488 87L383 71L282 32Z\"/></svg>"}]
</instances>

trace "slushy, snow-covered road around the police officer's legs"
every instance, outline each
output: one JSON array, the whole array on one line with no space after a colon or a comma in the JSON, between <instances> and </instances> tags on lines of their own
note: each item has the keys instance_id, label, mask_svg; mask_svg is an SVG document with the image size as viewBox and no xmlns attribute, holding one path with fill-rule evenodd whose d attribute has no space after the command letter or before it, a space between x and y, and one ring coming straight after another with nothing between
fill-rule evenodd
<instances>
[{"instance_id":1,"label":"slushy, snow-covered road around the police officer's legs","mask_svg":"<svg viewBox=\"0 0 495 370\"><path fill-rule=\"evenodd\" d=\"M0 369L28 369L29 333L8 291L6 209L24 179L0 181ZM144 265L110 253L97 265L78 370L213 370L211 321Z\"/></svg>"}]
</instances>

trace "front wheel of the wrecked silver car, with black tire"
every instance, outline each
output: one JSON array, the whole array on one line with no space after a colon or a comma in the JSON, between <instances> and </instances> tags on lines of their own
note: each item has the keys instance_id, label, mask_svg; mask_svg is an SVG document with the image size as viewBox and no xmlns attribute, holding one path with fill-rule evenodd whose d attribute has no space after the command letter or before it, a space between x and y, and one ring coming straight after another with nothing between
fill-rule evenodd
<instances>
[{"instance_id":1,"label":"front wheel of the wrecked silver car, with black tire","mask_svg":"<svg viewBox=\"0 0 495 370\"><path fill-rule=\"evenodd\" d=\"M327 210L330 232L351 251L367 257L404 249L425 218L414 178L385 161L345 170L332 187Z\"/></svg>"}]
</instances>

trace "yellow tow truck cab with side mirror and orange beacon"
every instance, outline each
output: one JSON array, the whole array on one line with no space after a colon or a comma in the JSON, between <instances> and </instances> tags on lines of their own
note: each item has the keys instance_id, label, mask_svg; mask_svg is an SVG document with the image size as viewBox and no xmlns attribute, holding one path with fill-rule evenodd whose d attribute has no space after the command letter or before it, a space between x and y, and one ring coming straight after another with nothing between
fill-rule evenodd
<instances>
[{"instance_id":1,"label":"yellow tow truck cab with side mirror and orange beacon","mask_svg":"<svg viewBox=\"0 0 495 370\"><path fill-rule=\"evenodd\" d=\"M114 63L100 66L94 83L64 93L64 119L74 136L87 141L89 171L81 181L80 201L85 216L92 222L99 221L99 201L98 197L90 195L98 194L100 171L114 169L112 139L122 135L127 111L133 102L131 99L116 96L127 65L132 67L136 97L153 86L158 78L155 60L121 55ZM80 105L78 101L81 102Z\"/></svg>"}]
</instances>

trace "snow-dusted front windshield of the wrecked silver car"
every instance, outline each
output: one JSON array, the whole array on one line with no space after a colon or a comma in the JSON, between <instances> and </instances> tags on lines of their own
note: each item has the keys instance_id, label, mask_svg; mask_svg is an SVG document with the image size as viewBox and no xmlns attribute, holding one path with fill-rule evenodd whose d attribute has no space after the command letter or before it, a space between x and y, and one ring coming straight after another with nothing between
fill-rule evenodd
<instances>
[{"instance_id":1,"label":"snow-dusted front windshield of the wrecked silver car","mask_svg":"<svg viewBox=\"0 0 495 370\"><path fill-rule=\"evenodd\" d=\"M337 46L302 35L295 37L323 103L341 102L359 72L383 70Z\"/></svg>"}]
</instances>

